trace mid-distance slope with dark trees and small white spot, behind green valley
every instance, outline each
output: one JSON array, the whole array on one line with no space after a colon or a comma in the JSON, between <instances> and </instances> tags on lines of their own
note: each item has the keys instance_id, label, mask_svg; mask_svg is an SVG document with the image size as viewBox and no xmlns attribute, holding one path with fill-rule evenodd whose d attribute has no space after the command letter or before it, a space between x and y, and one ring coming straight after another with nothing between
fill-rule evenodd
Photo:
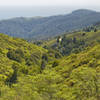
<instances>
[{"instance_id":1,"label":"mid-distance slope with dark trees and small white spot, behind green valley","mask_svg":"<svg viewBox=\"0 0 100 100\"><path fill-rule=\"evenodd\" d=\"M70 32L70 34L65 32L64 35L59 35L45 42L37 41L34 43L47 49L52 48L55 51L59 51L62 55L70 55L100 42L100 25L89 26L86 30Z\"/></svg>"}]
</instances>

